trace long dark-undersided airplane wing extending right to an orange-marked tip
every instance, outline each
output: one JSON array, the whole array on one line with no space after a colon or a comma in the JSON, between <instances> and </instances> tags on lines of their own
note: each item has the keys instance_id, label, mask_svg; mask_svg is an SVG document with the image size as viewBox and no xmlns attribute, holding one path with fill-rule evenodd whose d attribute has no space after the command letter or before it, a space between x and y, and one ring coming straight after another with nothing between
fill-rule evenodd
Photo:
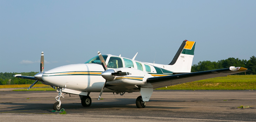
<instances>
[{"instance_id":1,"label":"long dark-undersided airplane wing extending right to an orange-marked tip","mask_svg":"<svg viewBox=\"0 0 256 122\"><path fill-rule=\"evenodd\" d=\"M243 67L230 67L226 69L216 69L209 71L199 71L194 73L184 73L177 75L169 76L160 76L160 77L150 77L147 79L147 83L153 85L154 89L177 85L187 82L199 81L202 79L214 78L214 77L223 77L231 74L241 73L248 71L248 69Z\"/></svg>"}]
</instances>

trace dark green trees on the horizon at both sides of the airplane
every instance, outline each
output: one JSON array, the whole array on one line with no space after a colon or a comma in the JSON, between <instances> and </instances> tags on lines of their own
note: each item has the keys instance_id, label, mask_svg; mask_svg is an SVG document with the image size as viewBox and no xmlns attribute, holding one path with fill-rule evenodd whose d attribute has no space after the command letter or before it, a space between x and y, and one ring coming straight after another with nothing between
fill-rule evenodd
<instances>
[{"instance_id":1,"label":"dark green trees on the horizon at both sides of the airplane","mask_svg":"<svg viewBox=\"0 0 256 122\"><path fill-rule=\"evenodd\" d=\"M244 67L248 68L251 71L248 71L246 74L248 75L256 75L256 57L251 56L250 60L240 60L238 58L228 58L220 61L200 61L197 64L194 64L191 67L191 72L196 71L206 71L206 70L214 70L214 69L223 69L229 68L230 66L235 67ZM25 76L34 76L38 72L30 72L30 73L0 73L0 85L13 85L13 84L32 84L35 81L29 79L22 79L13 77L16 74L22 74ZM238 75L244 75L245 73L240 73ZM41 82L38 82L41 84Z\"/></svg>"}]
</instances>

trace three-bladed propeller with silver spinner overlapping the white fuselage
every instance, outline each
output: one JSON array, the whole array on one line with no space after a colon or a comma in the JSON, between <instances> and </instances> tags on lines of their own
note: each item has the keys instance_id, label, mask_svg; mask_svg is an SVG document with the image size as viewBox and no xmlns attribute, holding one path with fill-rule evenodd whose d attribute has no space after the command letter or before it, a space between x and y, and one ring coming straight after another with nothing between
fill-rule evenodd
<instances>
[{"instance_id":1,"label":"three-bladed propeller with silver spinner overlapping the white fuselage","mask_svg":"<svg viewBox=\"0 0 256 122\"><path fill-rule=\"evenodd\" d=\"M99 55L99 58L100 58L101 65L103 66L103 68L105 70L101 73L101 76L104 79L106 79L106 81L103 84L103 87L100 91L100 95L99 95L99 98L98 98L98 100L100 100L101 94L102 94L102 92L105 88L105 85L106 85L107 81L112 81L115 78L115 76L125 76L125 75L130 75L130 73L122 72L122 71L115 72L115 70L113 70L113 69L108 69L107 64L106 64L103 56L101 55L100 51L98 51L98 55Z\"/></svg>"}]
</instances>

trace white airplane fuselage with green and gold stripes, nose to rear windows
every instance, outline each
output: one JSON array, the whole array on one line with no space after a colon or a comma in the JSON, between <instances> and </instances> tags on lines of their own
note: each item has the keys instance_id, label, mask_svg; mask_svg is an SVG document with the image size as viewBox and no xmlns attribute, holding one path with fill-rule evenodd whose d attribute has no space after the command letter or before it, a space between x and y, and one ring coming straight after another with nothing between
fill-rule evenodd
<instances>
[{"instance_id":1,"label":"white airplane fuselage with green and gold stripes, nose to rear windows","mask_svg":"<svg viewBox=\"0 0 256 122\"><path fill-rule=\"evenodd\" d=\"M117 71L129 72L127 76L115 76L114 80L107 81L104 92L134 92L137 85L148 85L146 79L153 76L166 76L171 75L169 71L163 68L157 68L147 63L131 60L130 68L127 67L126 61L122 57L108 55L106 62L110 64L111 57L120 58L119 67L109 68ZM122 62L121 62L122 61ZM131 64L131 62L129 62ZM147 70L147 71L146 71ZM158 71L157 71L158 70ZM42 75L45 84L63 87L66 89L85 91L85 92L100 92L105 79L101 76L104 71L101 64L85 63L85 64L70 64L66 66L57 67L46 71ZM161 72L161 73L160 73ZM138 90L137 90L138 91Z\"/></svg>"}]
</instances>

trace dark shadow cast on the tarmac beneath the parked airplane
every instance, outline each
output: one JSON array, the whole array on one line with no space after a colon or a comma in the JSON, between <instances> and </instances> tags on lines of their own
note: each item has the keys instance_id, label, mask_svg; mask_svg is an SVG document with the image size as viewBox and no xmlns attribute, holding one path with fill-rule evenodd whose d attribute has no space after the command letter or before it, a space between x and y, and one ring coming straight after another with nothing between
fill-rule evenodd
<instances>
[{"instance_id":1,"label":"dark shadow cast on the tarmac beneath the parked airplane","mask_svg":"<svg viewBox=\"0 0 256 122\"><path fill-rule=\"evenodd\" d=\"M150 102L154 102L153 104ZM161 105L161 102L183 102L183 101L169 101L169 100L150 100L147 102L147 105L145 109L147 108L153 108L153 109L182 109L186 107L171 107L171 106L163 106ZM5 105L11 105L8 108L8 110L0 110L0 113L12 113L12 112L18 112L18 113L26 113L26 112L51 112L53 110L53 104L40 104L40 103L1 103ZM158 106L158 104L160 104ZM117 98L117 99L111 99L111 100L92 100L92 104L89 107L83 107L80 102L74 102L74 103L62 103L62 108L65 110L83 110L83 109L138 109L135 104L135 99L126 99L126 98Z\"/></svg>"}]
</instances>

